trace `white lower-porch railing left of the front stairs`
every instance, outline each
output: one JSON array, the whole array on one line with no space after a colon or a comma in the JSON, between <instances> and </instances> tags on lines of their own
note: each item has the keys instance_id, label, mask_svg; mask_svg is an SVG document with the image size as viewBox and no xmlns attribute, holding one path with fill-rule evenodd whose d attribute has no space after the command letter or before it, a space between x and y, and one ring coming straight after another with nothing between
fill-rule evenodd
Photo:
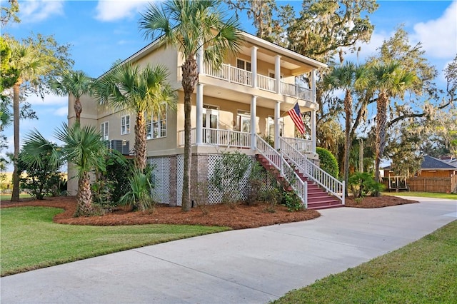
<instances>
[{"instance_id":1,"label":"white lower-porch railing left of the front stairs","mask_svg":"<svg viewBox=\"0 0 457 304\"><path fill-rule=\"evenodd\" d=\"M178 144L184 146L184 130L178 132ZM202 141L207 145L236 148L251 148L251 133L221 130L219 128L203 128ZM196 128L191 130L191 144L196 143Z\"/></svg>"}]
</instances>

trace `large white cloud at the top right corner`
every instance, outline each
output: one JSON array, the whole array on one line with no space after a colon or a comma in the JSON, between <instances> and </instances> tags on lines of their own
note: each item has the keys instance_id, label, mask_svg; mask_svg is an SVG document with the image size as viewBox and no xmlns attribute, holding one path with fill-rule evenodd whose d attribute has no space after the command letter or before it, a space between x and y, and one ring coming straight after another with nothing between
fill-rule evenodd
<instances>
[{"instance_id":1,"label":"large white cloud at the top right corner","mask_svg":"<svg viewBox=\"0 0 457 304\"><path fill-rule=\"evenodd\" d=\"M448 59L457 52L457 1L452 1L443 16L414 26L414 41L421 41L428 56Z\"/></svg>"}]
</instances>

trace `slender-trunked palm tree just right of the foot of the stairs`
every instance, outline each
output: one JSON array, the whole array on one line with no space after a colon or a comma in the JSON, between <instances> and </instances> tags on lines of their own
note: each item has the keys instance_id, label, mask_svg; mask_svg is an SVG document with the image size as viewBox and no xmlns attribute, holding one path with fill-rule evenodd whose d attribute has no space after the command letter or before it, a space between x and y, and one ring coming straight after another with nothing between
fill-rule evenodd
<instances>
[{"instance_id":1,"label":"slender-trunked palm tree just right of the foot of the stairs","mask_svg":"<svg viewBox=\"0 0 457 304\"><path fill-rule=\"evenodd\" d=\"M351 153L351 128L352 128L352 93L354 90L366 86L368 78L366 77L364 66L356 66L352 62L346 62L341 66L336 66L324 78L326 86L339 88L345 91L344 95L344 113L346 114L346 129L344 141L344 182L348 185L349 178L349 155ZM348 196L348 189L345 189L345 196Z\"/></svg>"}]
</instances>

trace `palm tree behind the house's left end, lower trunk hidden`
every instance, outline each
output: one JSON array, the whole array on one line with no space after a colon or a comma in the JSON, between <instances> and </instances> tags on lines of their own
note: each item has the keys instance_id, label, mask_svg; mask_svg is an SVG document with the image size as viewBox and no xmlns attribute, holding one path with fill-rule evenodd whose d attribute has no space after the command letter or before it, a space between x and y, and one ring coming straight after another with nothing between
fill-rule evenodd
<instances>
[{"instance_id":1,"label":"palm tree behind the house's left end, lower trunk hidden","mask_svg":"<svg viewBox=\"0 0 457 304\"><path fill-rule=\"evenodd\" d=\"M59 80L51 83L51 91L59 96L67 94L74 97L74 112L76 113L76 122L81 121L81 111L83 106L79 98L84 94L91 93L91 83L93 79L87 76L84 71L65 71Z\"/></svg>"}]
</instances>

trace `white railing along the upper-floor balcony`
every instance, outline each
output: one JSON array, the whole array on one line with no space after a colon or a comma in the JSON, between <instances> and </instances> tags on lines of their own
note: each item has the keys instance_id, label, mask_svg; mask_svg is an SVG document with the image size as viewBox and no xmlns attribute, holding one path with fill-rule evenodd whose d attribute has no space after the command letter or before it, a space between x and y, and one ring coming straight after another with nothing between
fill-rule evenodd
<instances>
[{"instance_id":1,"label":"white railing along the upper-floor balcony","mask_svg":"<svg viewBox=\"0 0 457 304\"><path fill-rule=\"evenodd\" d=\"M220 69L214 68L211 64L204 65L206 76L218 78L224 81L238 83L243 86L252 86L252 72L238 69L229 64L222 64ZM306 101L313 101L313 94L309 88L296 86L295 84L281 81L281 87L278 89L276 79L268 76L257 74L257 88L263 91L281 93L286 96L300 98Z\"/></svg>"}]
</instances>

